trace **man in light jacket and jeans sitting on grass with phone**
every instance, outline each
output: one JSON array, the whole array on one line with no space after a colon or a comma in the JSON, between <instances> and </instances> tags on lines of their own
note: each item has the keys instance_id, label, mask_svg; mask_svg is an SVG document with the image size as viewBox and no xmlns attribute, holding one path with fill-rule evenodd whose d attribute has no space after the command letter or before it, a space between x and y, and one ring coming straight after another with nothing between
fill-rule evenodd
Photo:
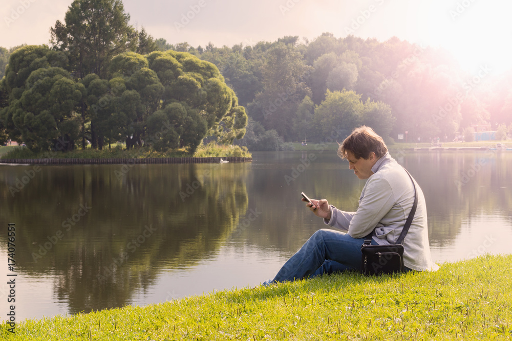
<instances>
[{"instance_id":1,"label":"man in light jacket and jeans sitting on grass with phone","mask_svg":"<svg viewBox=\"0 0 512 341\"><path fill-rule=\"evenodd\" d=\"M311 199L306 206L327 225L342 232L322 229L279 270L275 282L293 281L343 270L359 270L361 244L372 233L372 244L395 244L414 203L411 178L389 155L382 138L372 128L354 129L338 148L338 155L349 162L359 179L368 179L356 212L345 212L329 205L326 199ZM406 271L437 270L432 261L426 222L425 198L415 181L418 206L403 241ZM342 194L343 195L343 194ZM303 199L306 201L306 199Z\"/></svg>"}]
</instances>

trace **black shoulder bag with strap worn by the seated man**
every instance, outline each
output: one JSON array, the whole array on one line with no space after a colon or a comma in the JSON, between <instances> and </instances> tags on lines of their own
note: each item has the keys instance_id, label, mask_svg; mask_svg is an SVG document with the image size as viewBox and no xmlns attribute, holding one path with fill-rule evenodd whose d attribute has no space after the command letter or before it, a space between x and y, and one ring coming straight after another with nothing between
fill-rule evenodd
<instances>
[{"instance_id":1,"label":"black shoulder bag with strap worn by the seated man","mask_svg":"<svg viewBox=\"0 0 512 341\"><path fill-rule=\"evenodd\" d=\"M407 172L407 170L406 170ZM409 172L407 172L409 174ZM391 245L370 245L372 242L373 231L365 237L365 243L361 245L362 264L361 272L368 275L386 275L393 272L403 271L403 239L406 237L409 227L416 213L418 206L418 195L416 193L416 185L414 180L409 174L414 187L414 203L407 217L406 224L403 225L402 232L396 241L396 244Z\"/></svg>"}]
</instances>

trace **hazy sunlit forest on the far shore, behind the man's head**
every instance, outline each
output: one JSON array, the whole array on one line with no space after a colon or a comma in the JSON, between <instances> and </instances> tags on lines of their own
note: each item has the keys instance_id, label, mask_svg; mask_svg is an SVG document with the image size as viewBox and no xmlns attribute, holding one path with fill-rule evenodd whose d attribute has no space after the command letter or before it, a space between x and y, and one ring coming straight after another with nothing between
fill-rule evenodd
<instances>
[{"instance_id":1,"label":"hazy sunlit forest on the far shore, behind the man's head","mask_svg":"<svg viewBox=\"0 0 512 341\"><path fill-rule=\"evenodd\" d=\"M304 42L284 37L245 47L187 45L180 48L215 63L248 116L284 141L324 140L328 120L318 122L315 113L333 101L324 103L328 94L345 92L365 105L333 112L338 121L351 117L344 127L349 132L368 124L385 138L407 131L409 141L446 142L466 127L512 123L510 73L496 75L482 64L470 74L446 51L396 37L379 42L324 33Z\"/></svg>"}]
</instances>

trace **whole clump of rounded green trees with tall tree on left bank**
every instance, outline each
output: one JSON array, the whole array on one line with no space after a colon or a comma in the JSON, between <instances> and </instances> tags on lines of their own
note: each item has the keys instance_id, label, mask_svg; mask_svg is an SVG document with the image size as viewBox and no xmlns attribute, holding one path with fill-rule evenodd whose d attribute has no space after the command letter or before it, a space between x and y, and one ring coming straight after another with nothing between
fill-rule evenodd
<instances>
[{"instance_id":1,"label":"whole clump of rounded green trees with tall tree on left bank","mask_svg":"<svg viewBox=\"0 0 512 341\"><path fill-rule=\"evenodd\" d=\"M34 151L122 141L194 154L207 135L242 139L247 115L217 67L187 52L156 51L119 0L75 0L51 29L52 49L9 54L0 81L0 143ZM83 37L87 37L84 39ZM3 62L7 50L0 51Z\"/></svg>"}]
</instances>

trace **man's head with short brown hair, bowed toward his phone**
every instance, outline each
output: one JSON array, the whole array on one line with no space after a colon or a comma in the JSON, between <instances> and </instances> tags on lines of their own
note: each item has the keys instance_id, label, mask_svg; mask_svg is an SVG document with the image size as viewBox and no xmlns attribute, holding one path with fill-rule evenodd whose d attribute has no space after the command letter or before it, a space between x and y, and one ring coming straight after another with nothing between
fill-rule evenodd
<instances>
[{"instance_id":1,"label":"man's head with short brown hair, bowed toward his phone","mask_svg":"<svg viewBox=\"0 0 512 341\"><path fill-rule=\"evenodd\" d=\"M369 178L373 165L388 152L384 140L372 128L355 128L338 148L338 156L347 159L359 179Z\"/></svg>"}]
</instances>

